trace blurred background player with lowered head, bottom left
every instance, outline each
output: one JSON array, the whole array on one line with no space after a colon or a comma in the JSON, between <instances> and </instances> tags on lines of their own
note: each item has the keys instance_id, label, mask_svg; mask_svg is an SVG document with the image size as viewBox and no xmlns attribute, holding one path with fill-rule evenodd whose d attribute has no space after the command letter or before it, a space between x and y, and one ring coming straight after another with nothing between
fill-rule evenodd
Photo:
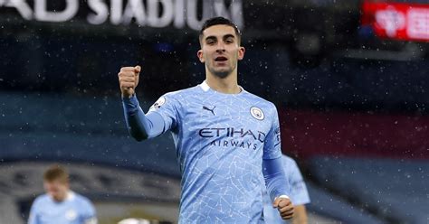
<instances>
[{"instance_id":1,"label":"blurred background player with lowered head, bottom left","mask_svg":"<svg viewBox=\"0 0 429 224\"><path fill-rule=\"evenodd\" d=\"M43 174L46 194L35 199L29 224L96 224L94 207L87 198L69 188L69 174L52 165Z\"/></svg>"}]
</instances>

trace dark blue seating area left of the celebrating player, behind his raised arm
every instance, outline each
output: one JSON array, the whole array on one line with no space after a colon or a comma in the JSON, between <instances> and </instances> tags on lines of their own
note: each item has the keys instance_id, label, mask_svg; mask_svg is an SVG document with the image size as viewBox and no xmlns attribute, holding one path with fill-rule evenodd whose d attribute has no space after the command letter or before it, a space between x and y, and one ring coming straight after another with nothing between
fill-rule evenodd
<instances>
[{"instance_id":1,"label":"dark blue seating area left of the celebrating player, behind his raised arm","mask_svg":"<svg viewBox=\"0 0 429 224\"><path fill-rule=\"evenodd\" d=\"M91 161L180 175L171 135L144 142L132 139L120 98L7 93L0 101L5 106L0 117L3 161ZM150 107L144 100L141 104Z\"/></svg>"}]
</instances>

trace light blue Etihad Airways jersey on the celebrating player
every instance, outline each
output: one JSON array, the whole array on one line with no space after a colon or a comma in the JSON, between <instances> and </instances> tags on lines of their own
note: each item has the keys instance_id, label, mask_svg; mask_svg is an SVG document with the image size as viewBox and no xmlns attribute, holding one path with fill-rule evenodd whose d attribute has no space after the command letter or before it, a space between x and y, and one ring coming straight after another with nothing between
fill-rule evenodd
<instances>
[{"instance_id":1,"label":"light blue Etihad Airways jersey on the celebrating player","mask_svg":"<svg viewBox=\"0 0 429 224\"><path fill-rule=\"evenodd\" d=\"M244 89L224 94L203 82L165 94L153 112L176 145L180 223L263 222L262 158L281 157L276 107Z\"/></svg>"}]
</instances>

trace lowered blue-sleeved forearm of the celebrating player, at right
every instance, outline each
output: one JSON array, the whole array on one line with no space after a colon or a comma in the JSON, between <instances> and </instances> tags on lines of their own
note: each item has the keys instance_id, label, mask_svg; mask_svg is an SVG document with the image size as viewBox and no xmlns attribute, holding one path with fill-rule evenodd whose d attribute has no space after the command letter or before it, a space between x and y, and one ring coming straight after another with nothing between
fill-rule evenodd
<instances>
[{"instance_id":1,"label":"lowered blue-sleeved forearm of the celebrating player, at right","mask_svg":"<svg viewBox=\"0 0 429 224\"><path fill-rule=\"evenodd\" d=\"M281 157L262 160L262 173L272 201L281 195L289 195L289 183L282 168Z\"/></svg>"}]
</instances>

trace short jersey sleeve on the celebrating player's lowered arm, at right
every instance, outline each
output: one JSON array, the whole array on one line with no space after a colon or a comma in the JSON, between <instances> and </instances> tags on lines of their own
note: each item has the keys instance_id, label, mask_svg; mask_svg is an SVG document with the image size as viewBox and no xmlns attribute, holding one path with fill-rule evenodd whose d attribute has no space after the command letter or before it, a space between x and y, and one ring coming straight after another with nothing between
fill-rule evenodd
<instances>
[{"instance_id":1,"label":"short jersey sleeve on the celebrating player's lowered arm, at right","mask_svg":"<svg viewBox=\"0 0 429 224\"><path fill-rule=\"evenodd\" d=\"M277 159L281 157L280 123L277 108L272 105L272 126L263 144L263 159Z\"/></svg>"}]
</instances>

